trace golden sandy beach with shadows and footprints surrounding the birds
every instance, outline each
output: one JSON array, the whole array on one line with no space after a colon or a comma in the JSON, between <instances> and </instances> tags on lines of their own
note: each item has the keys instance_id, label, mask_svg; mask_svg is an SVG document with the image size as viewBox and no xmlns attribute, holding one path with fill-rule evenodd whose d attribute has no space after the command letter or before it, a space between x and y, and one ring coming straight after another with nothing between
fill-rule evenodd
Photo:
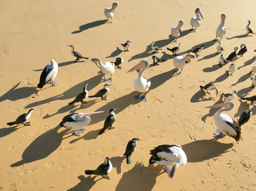
<instances>
[{"instance_id":1,"label":"golden sandy beach with shadows and footprints surrounding the birds","mask_svg":"<svg viewBox=\"0 0 256 191\"><path fill-rule=\"evenodd\" d=\"M0 190L256 190L256 108L238 97L255 95L250 88L256 61L256 34L246 36L247 20L256 31L256 2L245 1L123 1L114 11L113 23L105 23L104 8L112 1L13 1L0 6ZM203 20L196 32L189 21L201 8ZM218 43L214 41L220 15L226 14L227 33L221 39L228 57L237 46L247 52L233 62L236 71L228 76L228 63L219 67ZM184 21L183 33L172 39L171 27ZM219 39L219 38L218 38ZM121 44L130 40L129 51ZM154 55L151 42L162 48ZM167 50L181 43L178 55L204 45L199 57L174 75L174 56ZM75 50L89 57L74 63ZM88 83L89 95L103 88L103 73L90 58L114 62L122 57L121 70L112 75L106 99L87 98L87 104L68 105ZM59 64L57 86L38 89L44 67L54 59ZM142 59L150 62L143 77L151 81L146 102L134 99L136 71L127 73ZM109 76L108 76L109 77ZM200 90L214 83L219 94ZM225 136L214 139L213 115L219 108L205 108L224 101L222 93L237 91L235 109L226 112L235 120L244 110L252 116L242 128L242 140ZM202 99L203 97L203 99ZM33 108L31 126L6 123ZM111 108L115 127L98 135ZM62 118L78 112L105 111L93 115L86 131L75 136L59 127ZM123 157L129 140L138 137L131 164ZM150 165L150 150L162 144L181 145L187 164L169 178L163 166ZM110 180L85 175L109 157Z\"/></svg>"}]
</instances>

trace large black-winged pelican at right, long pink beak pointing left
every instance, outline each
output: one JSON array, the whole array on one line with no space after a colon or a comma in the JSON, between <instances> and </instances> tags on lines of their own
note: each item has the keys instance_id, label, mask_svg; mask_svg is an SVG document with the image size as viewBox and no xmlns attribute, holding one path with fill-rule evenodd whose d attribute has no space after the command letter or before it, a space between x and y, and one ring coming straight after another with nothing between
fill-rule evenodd
<instances>
[{"instance_id":1,"label":"large black-winged pelican at right, long pink beak pointing left","mask_svg":"<svg viewBox=\"0 0 256 191\"><path fill-rule=\"evenodd\" d=\"M241 126L238 123L229 117L227 114L222 114L224 111L230 111L235 108L235 103L232 101L225 101L213 106L208 106L206 108L216 108L222 107L214 114L214 121L217 126L217 132L214 133L214 137L223 137L228 135L235 138L236 142L240 140L241 137Z\"/></svg>"}]
</instances>

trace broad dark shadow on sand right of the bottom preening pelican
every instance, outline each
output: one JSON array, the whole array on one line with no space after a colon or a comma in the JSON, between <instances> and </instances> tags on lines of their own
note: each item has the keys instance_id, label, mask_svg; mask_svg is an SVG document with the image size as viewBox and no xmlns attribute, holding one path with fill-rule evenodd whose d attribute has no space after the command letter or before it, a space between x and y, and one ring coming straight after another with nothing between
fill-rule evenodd
<instances>
[{"instance_id":1,"label":"broad dark shadow on sand right of the bottom preening pelican","mask_svg":"<svg viewBox=\"0 0 256 191\"><path fill-rule=\"evenodd\" d=\"M187 162L202 162L229 152L233 145L233 143L220 143L212 138L211 140L196 140L181 147L187 155Z\"/></svg>"}]
</instances>

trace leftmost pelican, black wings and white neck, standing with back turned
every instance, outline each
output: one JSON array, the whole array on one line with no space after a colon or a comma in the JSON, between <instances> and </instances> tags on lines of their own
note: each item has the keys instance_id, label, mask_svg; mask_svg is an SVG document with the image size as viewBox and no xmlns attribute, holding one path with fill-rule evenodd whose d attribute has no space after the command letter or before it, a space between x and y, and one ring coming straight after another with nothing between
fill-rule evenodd
<instances>
[{"instance_id":1,"label":"leftmost pelican, black wings and white neck, standing with back turned","mask_svg":"<svg viewBox=\"0 0 256 191\"><path fill-rule=\"evenodd\" d=\"M51 59L52 65L46 65L43 72L40 75L39 84L37 84L37 88L43 88L43 86L47 83L51 83L51 86L57 85L55 82L55 77L58 73L58 64Z\"/></svg>"}]
</instances>

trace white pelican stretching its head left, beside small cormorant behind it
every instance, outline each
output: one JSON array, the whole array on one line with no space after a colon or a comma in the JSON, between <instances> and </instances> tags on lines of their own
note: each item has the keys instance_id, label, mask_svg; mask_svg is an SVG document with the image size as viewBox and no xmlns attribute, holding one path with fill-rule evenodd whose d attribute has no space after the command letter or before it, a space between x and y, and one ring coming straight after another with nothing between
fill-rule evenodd
<instances>
[{"instance_id":1,"label":"white pelican stretching its head left, beside small cormorant behind it","mask_svg":"<svg viewBox=\"0 0 256 191\"><path fill-rule=\"evenodd\" d=\"M106 81L112 82L112 74L114 73L114 63L104 62L102 64L101 59L99 59L99 58L92 58L91 60L94 64L96 64L96 66L98 66L102 70L102 72L104 74L104 79L102 81L103 82L106 82ZM106 79L105 75L110 75L110 78Z\"/></svg>"}]
</instances>

